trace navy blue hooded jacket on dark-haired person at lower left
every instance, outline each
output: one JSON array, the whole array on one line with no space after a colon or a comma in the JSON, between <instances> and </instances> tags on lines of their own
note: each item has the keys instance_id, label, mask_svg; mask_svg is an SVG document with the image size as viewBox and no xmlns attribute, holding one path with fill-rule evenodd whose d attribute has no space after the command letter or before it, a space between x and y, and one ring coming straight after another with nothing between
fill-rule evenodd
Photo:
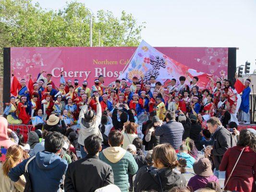
<instances>
[{"instance_id":1,"label":"navy blue hooded jacket on dark-haired person at lower left","mask_svg":"<svg viewBox=\"0 0 256 192\"><path fill-rule=\"evenodd\" d=\"M24 174L25 165L29 159L25 159L10 170L8 177L12 181L18 181L20 176ZM32 191L58 192L67 167L67 161L54 153L46 151L37 153L27 168Z\"/></svg>"}]
</instances>

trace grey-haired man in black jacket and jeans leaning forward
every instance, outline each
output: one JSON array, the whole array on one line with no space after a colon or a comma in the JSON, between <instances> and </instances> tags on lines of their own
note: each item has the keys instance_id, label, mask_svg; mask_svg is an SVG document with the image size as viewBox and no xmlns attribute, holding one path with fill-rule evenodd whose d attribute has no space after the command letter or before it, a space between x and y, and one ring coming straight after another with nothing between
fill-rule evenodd
<instances>
[{"instance_id":1,"label":"grey-haired man in black jacket and jeans leaning forward","mask_svg":"<svg viewBox=\"0 0 256 192\"><path fill-rule=\"evenodd\" d=\"M214 162L214 175L219 179L225 179L225 171L219 171L219 165L224 153L228 148L235 145L231 133L222 126L220 120L212 117L207 120L207 127L213 136L213 146L205 150L206 156L212 155Z\"/></svg>"}]
</instances>

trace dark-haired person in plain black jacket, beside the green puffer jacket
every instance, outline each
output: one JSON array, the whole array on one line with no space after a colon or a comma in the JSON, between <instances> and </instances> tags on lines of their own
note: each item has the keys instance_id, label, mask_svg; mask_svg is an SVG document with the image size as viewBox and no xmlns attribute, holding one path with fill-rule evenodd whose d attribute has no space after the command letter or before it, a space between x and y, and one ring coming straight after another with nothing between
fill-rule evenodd
<instances>
[{"instance_id":1,"label":"dark-haired person in plain black jacket, beside the green puffer jacket","mask_svg":"<svg viewBox=\"0 0 256 192\"><path fill-rule=\"evenodd\" d=\"M98 158L101 139L93 134L85 139L87 156L69 164L64 181L65 192L94 192L114 183L110 165Z\"/></svg>"}]
</instances>

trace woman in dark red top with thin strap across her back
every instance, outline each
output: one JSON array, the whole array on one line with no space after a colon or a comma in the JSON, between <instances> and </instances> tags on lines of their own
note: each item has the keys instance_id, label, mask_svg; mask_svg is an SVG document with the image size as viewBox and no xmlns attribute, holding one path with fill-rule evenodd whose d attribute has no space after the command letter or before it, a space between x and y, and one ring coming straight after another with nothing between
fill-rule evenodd
<instances>
[{"instance_id":1,"label":"woman in dark red top with thin strap across her back","mask_svg":"<svg viewBox=\"0 0 256 192\"><path fill-rule=\"evenodd\" d=\"M241 153L236 167L234 165ZM237 146L229 148L220 163L219 170L226 171L225 183L232 169L233 173L225 190L238 192L255 192L256 186L256 135L248 130L242 130Z\"/></svg>"}]
</instances>

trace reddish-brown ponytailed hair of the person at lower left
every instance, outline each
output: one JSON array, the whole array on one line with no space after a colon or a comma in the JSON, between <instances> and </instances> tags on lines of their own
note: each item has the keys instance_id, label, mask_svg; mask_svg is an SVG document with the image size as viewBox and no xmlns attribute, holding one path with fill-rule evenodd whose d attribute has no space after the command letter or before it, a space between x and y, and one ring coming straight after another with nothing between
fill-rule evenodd
<instances>
[{"instance_id":1,"label":"reddish-brown ponytailed hair of the person at lower left","mask_svg":"<svg viewBox=\"0 0 256 192\"><path fill-rule=\"evenodd\" d=\"M3 174L8 176L10 169L15 167L16 164L23 158L24 152L20 145L12 145L7 149L5 156L5 162L3 163L2 169Z\"/></svg>"}]
</instances>

